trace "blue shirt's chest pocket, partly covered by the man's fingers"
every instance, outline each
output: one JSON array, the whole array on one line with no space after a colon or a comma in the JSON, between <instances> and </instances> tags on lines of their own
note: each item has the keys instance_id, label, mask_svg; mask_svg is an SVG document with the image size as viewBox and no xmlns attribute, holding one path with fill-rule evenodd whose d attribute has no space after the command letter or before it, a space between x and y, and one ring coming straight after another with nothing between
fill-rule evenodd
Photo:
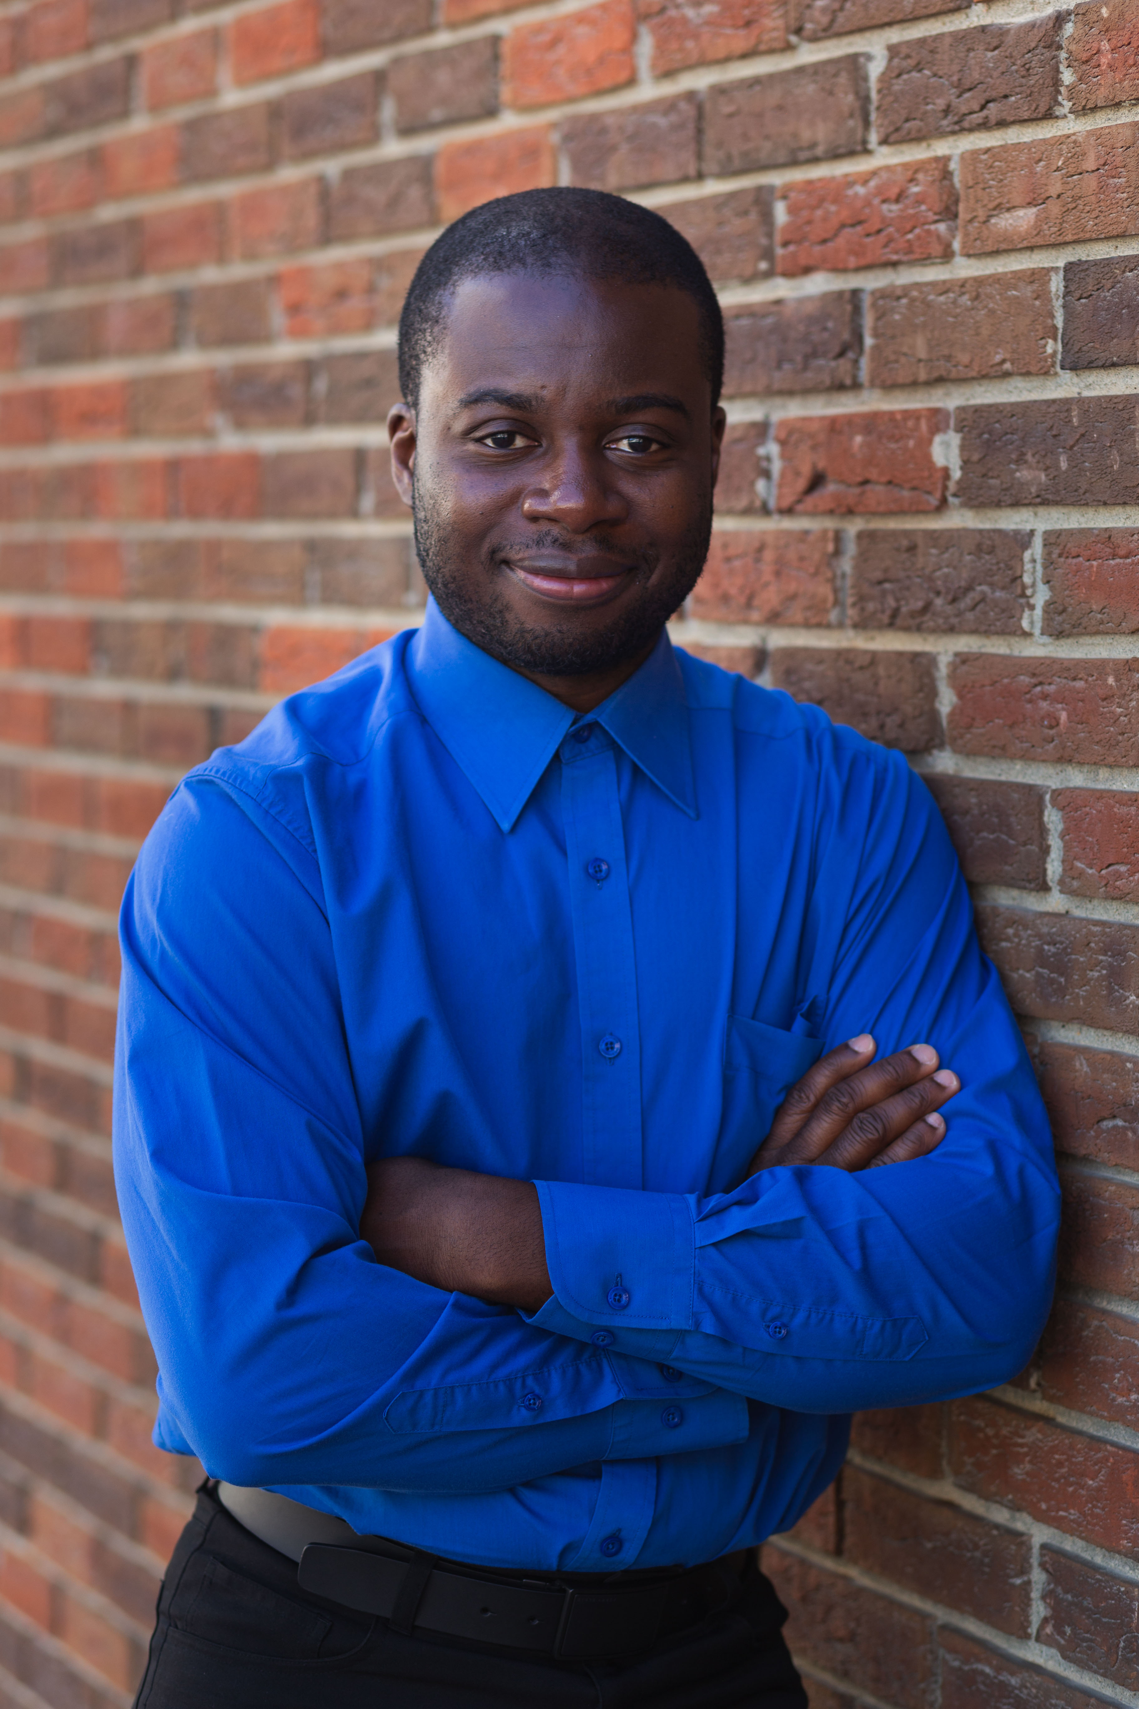
<instances>
[{"instance_id":1,"label":"blue shirt's chest pocket, partly covered by the man's fingers","mask_svg":"<svg viewBox=\"0 0 1139 1709\"><path fill-rule=\"evenodd\" d=\"M823 1039L727 1017L716 1189L738 1186L791 1087L823 1054Z\"/></svg>"}]
</instances>

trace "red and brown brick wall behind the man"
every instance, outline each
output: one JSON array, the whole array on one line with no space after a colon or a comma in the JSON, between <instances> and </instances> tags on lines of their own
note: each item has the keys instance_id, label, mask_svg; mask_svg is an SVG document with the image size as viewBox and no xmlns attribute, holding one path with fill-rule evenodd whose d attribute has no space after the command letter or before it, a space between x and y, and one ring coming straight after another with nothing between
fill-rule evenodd
<instances>
[{"instance_id":1,"label":"red and brown brick wall behind the man","mask_svg":"<svg viewBox=\"0 0 1139 1709\"><path fill-rule=\"evenodd\" d=\"M1062 1154L1031 1369L861 1417L765 1550L813 1709L1139 1704L1136 0L0 0L0 1704L130 1700L195 1482L114 1217L120 889L415 620L401 292L550 183L722 285L676 634L931 779Z\"/></svg>"}]
</instances>

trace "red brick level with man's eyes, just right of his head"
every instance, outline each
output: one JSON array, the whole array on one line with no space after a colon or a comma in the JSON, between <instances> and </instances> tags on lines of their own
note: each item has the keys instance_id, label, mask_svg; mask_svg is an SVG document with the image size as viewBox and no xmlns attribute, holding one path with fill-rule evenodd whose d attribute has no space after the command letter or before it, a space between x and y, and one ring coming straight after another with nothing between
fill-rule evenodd
<instances>
[{"instance_id":1,"label":"red brick level with man's eyes, just right of his head","mask_svg":"<svg viewBox=\"0 0 1139 1709\"><path fill-rule=\"evenodd\" d=\"M775 429L775 509L813 516L936 511L946 470L934 461L934 439L948 424L946 410L784 419Z\"/></svg>"}]
</instances>

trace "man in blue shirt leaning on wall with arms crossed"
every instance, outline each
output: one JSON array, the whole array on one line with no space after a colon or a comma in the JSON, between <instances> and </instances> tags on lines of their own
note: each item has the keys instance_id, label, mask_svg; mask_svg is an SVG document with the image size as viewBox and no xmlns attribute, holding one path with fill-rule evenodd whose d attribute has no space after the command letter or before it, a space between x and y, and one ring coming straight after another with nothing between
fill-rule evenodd
<instances>
[{"instance_id":1,"label":"man in blue shirt leaning on wall with arms crossed","mask_svg":"<svg viewBox=\"0 0 1139 1709\"><path fill-rule=\"evenodd\" d=\"M669 646L688 244L492 202L400 361L422 629L191 772L123 907L155 1441L212 1478L138 1704L792 1709L751 1545L850 1410L1023 1365L1047 1125L902 757Z\"/></svg>"}]
</instances>

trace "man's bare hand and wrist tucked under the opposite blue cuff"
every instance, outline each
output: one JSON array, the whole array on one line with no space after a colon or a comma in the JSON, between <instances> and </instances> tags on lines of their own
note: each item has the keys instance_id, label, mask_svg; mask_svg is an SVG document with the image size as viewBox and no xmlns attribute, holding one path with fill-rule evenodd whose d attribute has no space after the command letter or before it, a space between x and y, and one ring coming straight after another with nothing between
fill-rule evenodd
<instances>
[{"instance_id":1,"label":"man's bare hand and wrist tucked under the opposite blue cuff","mask_svg":"<svg viewBox=\"0 0 1139 1709\"><path fill-rule=\"evenodd\" d=\"M381 1265L446 1294L521 1311L553 1294L533 1181L384 1157L367 1167L360 1237Z\"/></svg>"}]
</instances>

